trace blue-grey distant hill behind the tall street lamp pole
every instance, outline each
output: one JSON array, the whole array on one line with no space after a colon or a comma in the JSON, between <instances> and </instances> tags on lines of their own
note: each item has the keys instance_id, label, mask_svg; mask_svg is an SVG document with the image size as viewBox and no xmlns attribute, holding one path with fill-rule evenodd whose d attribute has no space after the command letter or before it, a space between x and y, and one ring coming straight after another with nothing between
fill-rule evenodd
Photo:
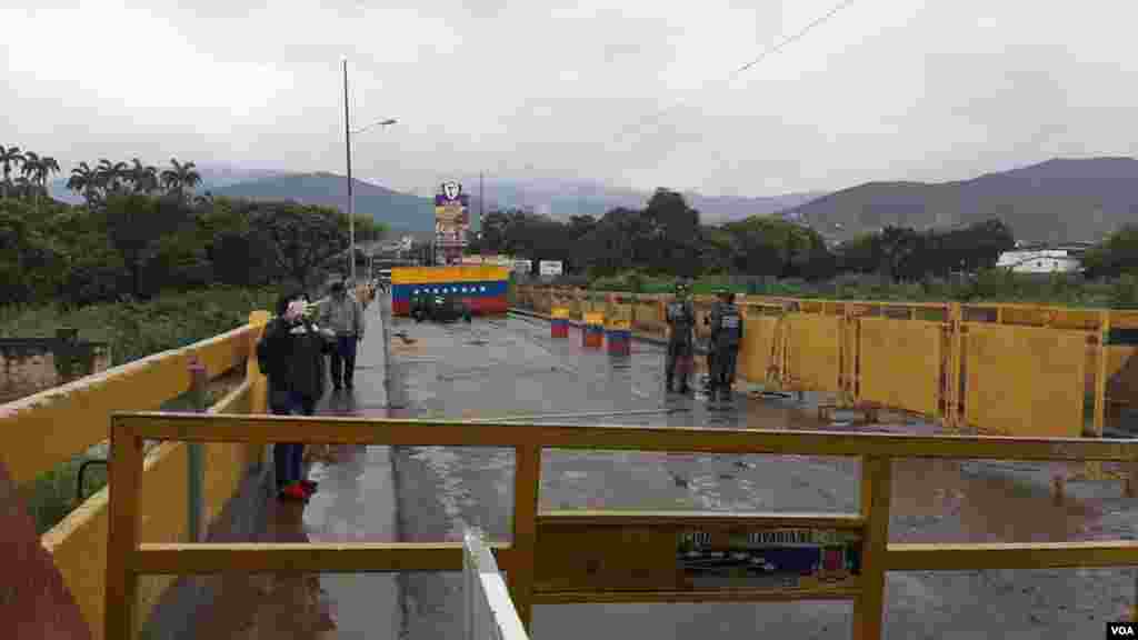
<instances>
[{"instance_id":1,"label":"blue-grey distant hill behind the tall street lamp pole","mask_svg":"<svg viewBox=\"0 0 1138 640\"><path fill-rule=\"evenodd\" d=\"M353 180L355 211L386 223L395 233L430 232L435 229L434 203L363 180ZM347 180L335 173L286 174L214 189L215 196L251 200L296 200L348 210Z\"/></svg>"}]
</instances>

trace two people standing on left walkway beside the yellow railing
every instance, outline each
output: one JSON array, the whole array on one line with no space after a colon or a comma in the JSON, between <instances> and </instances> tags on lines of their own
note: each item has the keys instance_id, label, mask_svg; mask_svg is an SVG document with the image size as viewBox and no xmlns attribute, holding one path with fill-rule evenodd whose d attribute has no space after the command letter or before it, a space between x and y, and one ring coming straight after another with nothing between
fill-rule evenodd
<instances>
[{"instance_id":1,"label":"two people standing on left walkway beside the yellow railing","mask_svg":"<svg viewBox=\"0 0 1138 640\"><path fill-rule=\"evenodd\" d=\"M365 329L363 305L337 281L319 310L295 290L278 298L275 311L257 342L257 361L269 378L269 409L279 416L312 416L329 372L333 392L354 386L356 346ZM307 501L316 492L318 484L305 477L303 444L274 444L273 463L278 498Z\"/></svg>"}]
</instances>

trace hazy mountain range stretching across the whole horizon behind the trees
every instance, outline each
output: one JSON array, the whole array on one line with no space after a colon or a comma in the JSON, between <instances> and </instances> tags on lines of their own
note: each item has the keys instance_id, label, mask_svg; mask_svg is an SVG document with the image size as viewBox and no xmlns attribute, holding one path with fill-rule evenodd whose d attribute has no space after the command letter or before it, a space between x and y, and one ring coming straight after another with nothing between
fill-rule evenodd
<instances>
[{"instance_id":1,"label":"hazy mountain range stretching across the whole horizon behind the trees","mask_svg":"<svg viewBox=\"0 0 1138 640\"><path fill-rule=\"evenodd\" d=\"M286 173L230 165L199 166L197 191L251 199L294 199L347 208L346 181L335 173ZM471 195L471 227L478 212L522 208L568 219L603 215L616 207L640 208L649 192L572 180L488 179L465 177ZM52 196L77 197L66 180L51 182ZM430 198L355 180L356 212L387 223L394 233L429 238L434 230ZM479 200L479 191L486 202ZM876 231L887 225L947 228L989 218L1007 223L1017 239L1036 241L1098 240L1138 214L1138 159L1130 157L1054 158L1011 171L950 182L866 182L832 194L802 192L773 197L684 194L707 224L750 215L780 215L818 230L832 240Z\"/></svg>"}]
</instances>

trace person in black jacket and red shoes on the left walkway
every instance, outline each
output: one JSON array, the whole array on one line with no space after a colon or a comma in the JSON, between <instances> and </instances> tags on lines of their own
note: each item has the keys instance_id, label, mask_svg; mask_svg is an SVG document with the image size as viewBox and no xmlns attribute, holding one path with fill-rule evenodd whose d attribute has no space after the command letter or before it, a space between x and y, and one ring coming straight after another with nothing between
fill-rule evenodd
<instances>
[{"instance_id":1,"label":"person in black jacket and red shoes on the left walkway","mask_svg":"<svg viewBox=\"0 0 1138 640\"><path fill-rule=\"evenodd\" d=\"M277 301L277 318L257 343L257 360L269 377L269 408L275 415L312 416L324 393L327 336L304 318L303 294L290 293ZM306 500L316 483L304 478L304 445L273 446L277 491L282 499Z\"/></svg>"}]
</instances>

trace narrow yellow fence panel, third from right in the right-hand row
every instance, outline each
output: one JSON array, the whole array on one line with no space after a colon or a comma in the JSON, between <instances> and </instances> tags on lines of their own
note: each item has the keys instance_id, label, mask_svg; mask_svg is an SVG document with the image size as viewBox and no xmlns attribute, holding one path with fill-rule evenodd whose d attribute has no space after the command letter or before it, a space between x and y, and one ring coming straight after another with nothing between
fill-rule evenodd
<instances>
[{"instance_id":1,"label":"narrow yellow fence panel, third from right in the right-hand row","mask_svg":"<svg viewBox=\"0 0 1138 640\"><path fill-rule=\"evenodd\" d=\"M841 317L815 313L790 313L785 317L784 377L790 389L841 392L842 321Z\"/></svg>"}]
</instances>

